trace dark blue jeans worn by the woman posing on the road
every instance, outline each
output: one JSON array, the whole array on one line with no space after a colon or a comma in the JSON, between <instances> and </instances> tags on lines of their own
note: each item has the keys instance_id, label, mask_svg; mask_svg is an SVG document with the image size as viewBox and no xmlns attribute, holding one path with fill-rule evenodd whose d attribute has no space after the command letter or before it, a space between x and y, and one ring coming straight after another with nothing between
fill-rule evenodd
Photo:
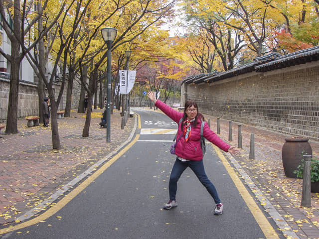
<instances>
[{"instance_id":1,"label":"dark blue jeans worn by the woman posing on the road","mask_svg":"<svg viewBox=\"0 0 319 239\"><path fill-rule=\"evenodd\" d=\"M190 169L195 173L195 175L197 176L201 184L204 185L208 193L214 199L215 204L221 203L215 186L211 183L211 181L208 179L205 173L203 160L200 160L200 161L191 160L191 161L182 162L178 158L176 158L173 169L171 170L171 173L170 173L169 185L168 185L169 199L175 200L176 191L177 191L177 181L180 178L180 175L185 171L187 167L190 167Z\"/></svg>"}]
</instances>

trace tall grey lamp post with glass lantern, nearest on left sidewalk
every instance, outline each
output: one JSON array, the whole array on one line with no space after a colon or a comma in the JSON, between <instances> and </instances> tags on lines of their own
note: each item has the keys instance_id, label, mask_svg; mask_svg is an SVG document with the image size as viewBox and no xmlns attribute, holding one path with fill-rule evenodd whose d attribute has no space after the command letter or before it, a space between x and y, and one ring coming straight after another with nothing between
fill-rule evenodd
<instances>
[{"instance_id":1,"label":"tall grey lamp post with glass lantern, nearest on left sidewalk","mask_svg":"<svg viewBox=\"0 0 319 239\"><path fill-rule=\"evenodd\" d=\"M112 43L116 37L118 29L106 27L101 30L103 39L107 44L107 106L106 106L106 142L111 142L111 51Z\"/></svg>"}]
</instances>

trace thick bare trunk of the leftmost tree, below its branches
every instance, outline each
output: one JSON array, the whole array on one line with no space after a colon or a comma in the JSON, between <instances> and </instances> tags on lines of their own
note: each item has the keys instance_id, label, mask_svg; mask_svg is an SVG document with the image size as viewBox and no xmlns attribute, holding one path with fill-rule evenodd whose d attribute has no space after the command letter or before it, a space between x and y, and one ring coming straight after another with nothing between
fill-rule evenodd
<instances>
[{"instance_id":1,"label":"thick bare trunk of the leftmost tree, below its branches","mask_svg":"<svg viewBox=\"0 0 319 239\"><path fill-rule=\"evenodd\" d=\"M11 42L11 70L10 70L10 92L9 104L6 118L5 133L17 133L17 111L18 111L18 94L19 94L19 72L20 72L20 58L19 44Z\"/></svg>"}]
</instances>

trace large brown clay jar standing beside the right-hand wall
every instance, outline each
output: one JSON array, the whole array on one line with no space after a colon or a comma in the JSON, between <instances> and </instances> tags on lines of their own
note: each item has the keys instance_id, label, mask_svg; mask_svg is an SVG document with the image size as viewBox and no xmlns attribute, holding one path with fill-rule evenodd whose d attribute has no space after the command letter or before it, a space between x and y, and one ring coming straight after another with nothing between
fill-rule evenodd
<instances>
[{"instance_id":1,"label":"large brown clay jar standing beside the right-hand wall","mask_svg":"<svg viewBox=\"0 0 319 239\"><path fill-rule=\"evenodd\" d=\"M283 166L286 177L297 178L294 171L297 170L298 165L301 164L303 155L313 155L313 150L308 138L292 137L285 138L286 142L282 149Z\"/></svg>"}]
</instances>

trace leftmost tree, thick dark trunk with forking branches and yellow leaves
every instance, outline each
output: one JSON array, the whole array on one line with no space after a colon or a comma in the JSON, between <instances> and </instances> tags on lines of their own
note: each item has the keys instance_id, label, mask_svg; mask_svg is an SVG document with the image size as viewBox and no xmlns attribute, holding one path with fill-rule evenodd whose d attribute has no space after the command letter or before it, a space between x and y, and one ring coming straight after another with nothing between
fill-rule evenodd
<instances>
[{"instance_id":1,"label":"leftmost tree, thick dark trunk with forking branches and yellow leaves","mask_svg":"<svg viewBox=\"0 0 319 239\"><path fill-rule=\"evenodd\" d=\"M11 44L11 53L6 54L0 49L0 54L10 62L10 91L9 104L6 119L6 133L16 133L17 129L17 106L19 92L19 72L22 59L30 54L30 51L37 45L47 32L54 27L57 18L47 19L46 27L34 35L33 30L42 17L44 9L47 7L48 0L43 0L42 8L34 11L33 2L24 1L21 5L20 0L4 1L0 0L0 21ZM63 3L61 4L63 6ZM59 8L60 12L63 7ZM6 13L7 17L6 17ZM12 24L10 24L12 22Z\"/></svg>"}]
</instances>

